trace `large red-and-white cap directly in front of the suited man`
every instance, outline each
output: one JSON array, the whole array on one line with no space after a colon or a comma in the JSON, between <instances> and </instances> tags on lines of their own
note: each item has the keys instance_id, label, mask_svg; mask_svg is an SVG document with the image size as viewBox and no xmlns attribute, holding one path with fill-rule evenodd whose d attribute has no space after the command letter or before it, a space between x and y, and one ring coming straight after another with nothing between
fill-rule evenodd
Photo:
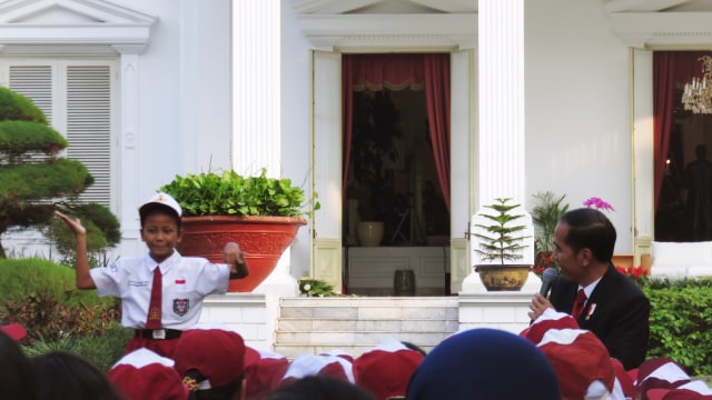
<instances>
[{"instance_id":1,"label":"large red-and-white cap directly in front of the suited man","mask_svg":"<svg viewBox=\"0 0 712 400\"><path fill-rule=\"evenodd\" d=\"M570 314L547 309L525 337L554 367L563 398L583 399L596 381L603 382L602 389L614 392L615 369L609 350L593 332L577 329Z\"/></svg>"}]
</instances>

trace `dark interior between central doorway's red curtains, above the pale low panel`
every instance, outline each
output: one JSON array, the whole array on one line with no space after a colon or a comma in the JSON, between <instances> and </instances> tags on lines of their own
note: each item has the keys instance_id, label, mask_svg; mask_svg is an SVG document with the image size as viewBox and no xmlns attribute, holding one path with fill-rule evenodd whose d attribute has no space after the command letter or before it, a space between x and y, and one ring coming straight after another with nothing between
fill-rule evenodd
<instances>
[{"instance_id":1,"label":"dark interior between central doorway's red curtains, above the pale low panel","mask_svg":"<svg viewBox=\"0 0 712 400\"><path fill-rule=\"evenodd\" d=\"M380 221L380 246L441 246L449 212L437 184L422 90L353 94L354 122L344 201L344 243L359 221Z\"/></svg>"}]
</instances>

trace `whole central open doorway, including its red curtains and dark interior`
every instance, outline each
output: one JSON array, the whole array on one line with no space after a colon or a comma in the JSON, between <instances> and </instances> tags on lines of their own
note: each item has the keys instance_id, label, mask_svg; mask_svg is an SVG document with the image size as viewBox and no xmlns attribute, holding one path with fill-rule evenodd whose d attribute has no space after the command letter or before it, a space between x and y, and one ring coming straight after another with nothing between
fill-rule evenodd
<instances>
[{"instance_id":1,"label":"whole central open doorway, including its red curtains and dark interior","mask_svg":"<svg viewBox=\"0 0 712 400\"><path fill-rule=\"evenodd\" d=\"M447 294L449 54L344 54L342 72L345 288Z\"/></svg>"}]
</instances>

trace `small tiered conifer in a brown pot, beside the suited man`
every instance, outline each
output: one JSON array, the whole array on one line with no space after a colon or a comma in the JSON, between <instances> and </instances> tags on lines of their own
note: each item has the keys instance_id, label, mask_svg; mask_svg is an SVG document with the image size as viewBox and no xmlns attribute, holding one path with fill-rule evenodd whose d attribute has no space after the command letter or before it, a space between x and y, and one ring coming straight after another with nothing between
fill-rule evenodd
<instances>
[{"instance_id":1,"label":"small tiered conifer in a brown pot, beside the suited man","mask_svg":"<svg viewBox=\"0 0 712 400\"><path fill-rule=\"evenodd\" d=\"M530 264L505 262L523 259L523 251L527 248L524 243L527 237L522 236L526 226L515 224L524 214L513 213L521 206L511 204L511 200L497 198L494 203L484 206L494 212L479 213L484 222L475 224L479 228L474 233L479 239L479 249L475 249L475 252L479 254L481 261L495 261L475 266L482 283L491 291L522 289L532 268Z\"/></svg>"}]
</instances>

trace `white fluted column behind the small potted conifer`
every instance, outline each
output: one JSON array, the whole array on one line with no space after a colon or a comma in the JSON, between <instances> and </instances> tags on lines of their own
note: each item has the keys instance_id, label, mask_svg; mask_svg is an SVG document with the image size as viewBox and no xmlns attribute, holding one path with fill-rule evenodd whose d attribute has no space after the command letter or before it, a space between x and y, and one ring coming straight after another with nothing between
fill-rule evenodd
<instances>
[{"instance_id":1,"label":"white fluted column behind the small potted conifer","mask_svg":"<svg viewBox=\"0 0 712 400\"><path fill-rule=\"evenodd\" d=\"M524 0L479 0L478 4L477 213L491 213L483 206L496 198L512 198L511 203L522 206L525 201ZM473 263L479 259L474 252L478 246L472 237ZM523 262L533 262L533 249L530 252ZM463 292L483 290L473 270L463 281Z\"/></svg>"}]
</instances>

